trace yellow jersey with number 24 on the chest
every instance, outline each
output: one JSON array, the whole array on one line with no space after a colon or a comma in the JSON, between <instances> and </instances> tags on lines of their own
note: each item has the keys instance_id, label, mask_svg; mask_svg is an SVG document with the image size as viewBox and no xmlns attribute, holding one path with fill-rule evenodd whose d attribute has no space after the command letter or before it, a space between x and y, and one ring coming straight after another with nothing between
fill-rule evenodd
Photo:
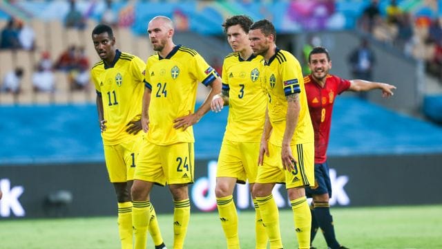
<instances>
[{"instance_id":1,"label":"yellow jersey with number 24 on the chest","mask_svg":"<svg viewBox=\"0 0 442 249\"><path fill-rule=\"evenodd\" d=\"M175 129L173 120L194 112L198 82L208 86L217 77L200 54L181 45L164 58L148 57L144 83L152 93L146 139L155 145L194 142L193 127Z\"/></svg>"}]
</instances>

